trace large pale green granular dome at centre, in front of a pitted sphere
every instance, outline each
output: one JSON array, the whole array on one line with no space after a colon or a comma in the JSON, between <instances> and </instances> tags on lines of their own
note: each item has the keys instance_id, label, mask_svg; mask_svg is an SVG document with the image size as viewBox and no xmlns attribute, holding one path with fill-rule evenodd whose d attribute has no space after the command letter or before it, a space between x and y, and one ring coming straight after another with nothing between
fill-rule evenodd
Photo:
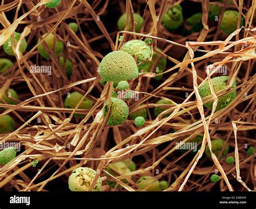
<instances>
[{"instance_id":1,"label":"large pale green granular dome at centre, in front of a pitted sphere","mask_svg":"<svg viewBox=\"0 0 256 209\"><path fill-rule=\"evenodd\" d=\"M138 67L133 57L124 51L107 54L99 65L99 74L104 81L126 81L139 76Z\"/></svg>"}]
</instances>

